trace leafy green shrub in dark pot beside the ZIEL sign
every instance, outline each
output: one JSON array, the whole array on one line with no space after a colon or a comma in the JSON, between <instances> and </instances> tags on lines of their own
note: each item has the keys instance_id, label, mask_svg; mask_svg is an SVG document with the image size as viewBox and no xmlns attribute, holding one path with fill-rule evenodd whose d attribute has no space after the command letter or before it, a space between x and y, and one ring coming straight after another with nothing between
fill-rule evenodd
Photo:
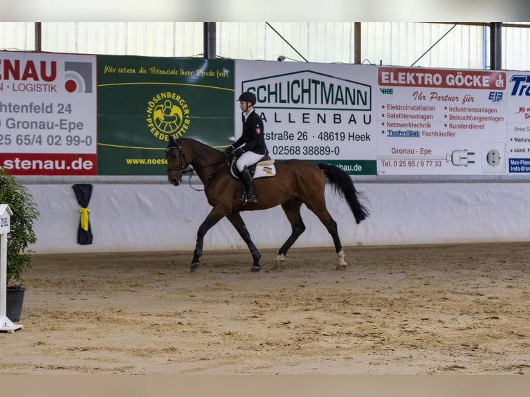
<instances>
[{"instance_id":1,"label":"leafy green shrub in dark pot beside the ZIEL sign","mask_svg":"<svg viewBox=\"0 0 530 397\"><path fill-rule=\"evenodd\" d=\"M38 219L39 211L33 202L33 196L24 185L0 168L0 203L8 204L13 214L8 234L7 260L7 299L6 311L11 321L19 321L22 301L26 288L19 283L22 273L31 266L30 244L37 242L33 231L33 222Z\"/></svg>"}]
</instances>

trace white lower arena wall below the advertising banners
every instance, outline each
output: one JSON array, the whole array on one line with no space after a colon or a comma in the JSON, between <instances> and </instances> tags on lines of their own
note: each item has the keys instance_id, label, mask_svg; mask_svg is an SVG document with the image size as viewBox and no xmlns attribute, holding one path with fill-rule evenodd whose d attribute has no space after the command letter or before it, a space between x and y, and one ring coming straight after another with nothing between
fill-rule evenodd
<instances>
[{"instance_id":1,"label":"white lower arena wall below the advertising banners","mask_svg":"<svg viewBox=\"0 0 530 397\"><path fill-rule=\"evenodd\" d=\"M30 184L41 215L35 253L194 249L210 211L203 192L183 183L93 184L89 204L93 243L77 243L80 205L72 185ZM194 185L201 189L201 185ZM327 191L329 212L343 246L526 241L530 235L527 183L356 183L371 214L356 225L345 201ZM280 207L242 214L258 248L279 248L290 226ZM327 230L302 207L306 232L295 247L329 248ZM246 249L226 220L205 237L204 250ZM191 253L190 253L191 255ZM190 258L191 259L191 258Z\"/></svg>"}]
</instances>

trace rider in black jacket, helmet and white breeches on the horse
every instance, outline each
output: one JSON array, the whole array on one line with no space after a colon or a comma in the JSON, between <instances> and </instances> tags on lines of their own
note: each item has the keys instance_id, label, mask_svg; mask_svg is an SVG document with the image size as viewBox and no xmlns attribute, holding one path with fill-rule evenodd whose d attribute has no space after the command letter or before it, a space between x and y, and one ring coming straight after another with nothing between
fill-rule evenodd
<instances>
[{"instance_id":1,"label":"rider in black jacket, helmet and white breeches on the horse","mask_svg":"<svg viewBox=\"0 0 530 397\"><path fill-rule=\"evenodd\" d=\"M254 193L252 176L247 167L257 163L263 156L268 154L263 134L263 120L254 111L256 95L250 91L239 95L239 109L244 113L243 133L225 151L234 152L237 161L235 163L241 180L245 186L246 201L257 203L257 196Z\"/></svg>"}]
</instances>

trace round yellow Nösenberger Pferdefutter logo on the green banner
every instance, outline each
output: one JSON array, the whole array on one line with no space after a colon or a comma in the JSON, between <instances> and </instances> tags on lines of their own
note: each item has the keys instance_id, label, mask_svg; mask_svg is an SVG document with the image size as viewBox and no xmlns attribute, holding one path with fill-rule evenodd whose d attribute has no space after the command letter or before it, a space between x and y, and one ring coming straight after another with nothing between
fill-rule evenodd
<instances>
[{"instance_id":1,"label":"round yellow N\u00f6senberger Pferdefutter logo on the green banner","mask_svg":"<svg viewBox=\"0 0 530 397\"><path fill-rule=\"evenodd\" d=\"M147 102L147 127L159 140L181 138L190 127L190 109L181 95L165 91Z\"/></svg>"}]
</instances>

